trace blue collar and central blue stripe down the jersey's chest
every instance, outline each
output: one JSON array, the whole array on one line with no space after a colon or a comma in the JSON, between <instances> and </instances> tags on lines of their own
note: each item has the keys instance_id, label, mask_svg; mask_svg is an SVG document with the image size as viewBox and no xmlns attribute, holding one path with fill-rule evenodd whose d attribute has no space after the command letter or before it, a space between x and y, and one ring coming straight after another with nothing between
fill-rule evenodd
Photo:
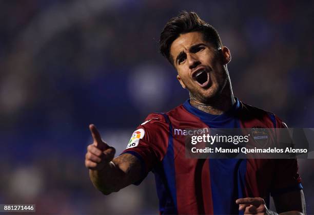
<instances>
[{"instance_id":1,"label":"blue collar and central blue stripe down the jersey's chest","mask_svg":"<svg viewBox=\"0 0 314 215\"><path fill-rule=\"evenodd\" d=\"M234 117L239 110L240 101L222 115L212 115L193 107L189 100L184 103L186 110L199 117L208 127L240 128L239 119ZM214 214L243 214L235 200L245 196L246 159L210 159L210 186ZM227 203L227 204L225 204ZM230 204L228 204L230 203Z\"/></svg>"}]
</instances>

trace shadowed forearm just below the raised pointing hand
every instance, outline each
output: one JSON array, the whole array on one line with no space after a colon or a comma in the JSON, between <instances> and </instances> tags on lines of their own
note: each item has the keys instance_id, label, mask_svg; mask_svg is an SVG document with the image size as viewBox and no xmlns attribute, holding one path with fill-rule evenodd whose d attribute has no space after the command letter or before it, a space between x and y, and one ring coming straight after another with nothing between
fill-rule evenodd
<instances>
[{"instance_id":1,"label":"shadowed forearm just below the raised pointing hand","mask_svg":"<svg viewBox=\"0 0 314 215\"><path fill-rule=\"evenodd\" d=\"M109 162L101 170L89 169L89 177L93 185L104 195L116 192L127 186L125 184L126 173L113 162Z\"/></svg>"}]
</instances>

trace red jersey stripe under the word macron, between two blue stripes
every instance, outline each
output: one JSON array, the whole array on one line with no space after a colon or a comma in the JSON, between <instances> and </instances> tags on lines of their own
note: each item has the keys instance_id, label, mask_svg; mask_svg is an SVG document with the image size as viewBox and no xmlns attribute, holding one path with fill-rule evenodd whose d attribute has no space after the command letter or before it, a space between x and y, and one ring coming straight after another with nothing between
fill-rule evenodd
<instances>
[{"instance_id":1,"label":"red jersey stripe under the word macron, between two blue stripes","mask_svg":"<svg viewBox=\"0 0 314 215\"><path fill-rule=\"evenodd\" d=\"M208 127L198 117L180 106L180 111L169 115L173 129ZM178 116L180 115L180 116ZM175 119L183 119L176 121ZM191 123L194 122L194 123ZM173 134L174 135L174 134ZM179 214L213 213L208 159L188 159L185 157L185 145L182 138L173 138L176 200ZM181 141L180 141L181 140ZM188 162L187 162L188 159ZM201 181L195 181L201 180Z\"/></svg>"}]
</instances>

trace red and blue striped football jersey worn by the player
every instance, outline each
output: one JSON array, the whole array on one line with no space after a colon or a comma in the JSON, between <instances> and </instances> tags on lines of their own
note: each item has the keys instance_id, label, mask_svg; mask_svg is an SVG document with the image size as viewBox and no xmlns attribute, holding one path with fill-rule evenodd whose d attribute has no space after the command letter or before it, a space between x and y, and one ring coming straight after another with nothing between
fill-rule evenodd
<instances>
[{"instance_id":1,"label":"red and blue striped football jersey worn by the player","mask_svg":"<svg viewBox=\"0 0 314 215\"><path fill-rule=\"evenodd\" d=\"M235 98L222 115L205 113L185 101L167 113L148 115L127 149L142 162L143 179L155 176L161 214L238 214L235 200L269 198L302 189L296 159L190 159L185 156L186 128L284 128L274 114ZM141 181L136 182L140 184Z\"/></svg>"}]
</instances>

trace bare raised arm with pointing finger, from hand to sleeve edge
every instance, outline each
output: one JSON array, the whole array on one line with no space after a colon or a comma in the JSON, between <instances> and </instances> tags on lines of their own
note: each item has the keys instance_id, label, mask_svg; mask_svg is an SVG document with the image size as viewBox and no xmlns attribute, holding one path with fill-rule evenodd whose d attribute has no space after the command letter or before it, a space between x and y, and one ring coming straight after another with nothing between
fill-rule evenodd
<instances>
[{"instance_id":1,"label":"bare raised arm with pointing finger, from hand to sleeve edge","mask_svg":"<svg viewBox=\"0 0 314 215\"><path fill-rule=\"evenodd\" d=\"M109 195L141 179L141 163L131 154L114 157L115 148L102 140L94 125L89 125L93 143L88 145L85 166L93 185Z\"/></svg>"}]
</instances>

